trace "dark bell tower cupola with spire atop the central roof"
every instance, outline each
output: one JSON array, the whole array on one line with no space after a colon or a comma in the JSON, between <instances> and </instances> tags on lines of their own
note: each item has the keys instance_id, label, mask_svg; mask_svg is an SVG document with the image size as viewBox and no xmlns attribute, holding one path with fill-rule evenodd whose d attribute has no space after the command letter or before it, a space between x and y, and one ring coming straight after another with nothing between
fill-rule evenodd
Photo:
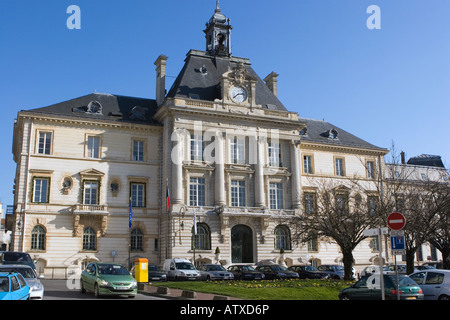
<instances>
[{"instance_id":1,"label":"dark bell tower cupola with spire atop the central roof","mask_svg":"<svg viewBox=\"0 0 450 320\"><path fill-rule=\"evenodd\" d=\"M216 2L216 11L206 23L206 51L211 55L231 56L231 30L230 19L222 14L219 0Z\"/></svg>"}]
</instances>

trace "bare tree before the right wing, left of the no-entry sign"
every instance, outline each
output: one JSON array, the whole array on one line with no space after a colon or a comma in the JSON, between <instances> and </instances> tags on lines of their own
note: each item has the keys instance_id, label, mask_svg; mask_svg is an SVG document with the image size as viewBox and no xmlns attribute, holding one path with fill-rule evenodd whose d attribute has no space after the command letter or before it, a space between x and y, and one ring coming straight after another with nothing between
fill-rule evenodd
<instances>
[{"instance_id":1,"label":"bare tree before the right wing, left of the no-entry sign","mask_svg":"<svg viewBox=\"0 0 450 320\"><path fill-rule=\"evenodd\" d=\"M366 237L366 229L380 224L378 195L373 186L357 178L314 179L303 197L304 213L291 224L297 243L332 239L342 251L345 279L352 279L353 250Z\"/></svg>"}]
</instances>

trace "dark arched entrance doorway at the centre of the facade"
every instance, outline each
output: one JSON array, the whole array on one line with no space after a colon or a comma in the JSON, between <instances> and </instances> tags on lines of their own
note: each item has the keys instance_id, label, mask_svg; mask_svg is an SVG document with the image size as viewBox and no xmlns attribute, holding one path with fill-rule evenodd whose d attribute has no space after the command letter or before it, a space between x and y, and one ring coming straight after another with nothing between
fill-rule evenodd
<instances>
[{"instance_id":1,"label":"dark arched entrance doorway at the centre of the facade","mask_svg":"<svg viewBox=\"0 0 450 320\"><path fill-rule=\"evenodd\" d=\"M253 263L253 232L248 226L237 225L231 229L232 263Z\"/></svg>"}]
</instances>

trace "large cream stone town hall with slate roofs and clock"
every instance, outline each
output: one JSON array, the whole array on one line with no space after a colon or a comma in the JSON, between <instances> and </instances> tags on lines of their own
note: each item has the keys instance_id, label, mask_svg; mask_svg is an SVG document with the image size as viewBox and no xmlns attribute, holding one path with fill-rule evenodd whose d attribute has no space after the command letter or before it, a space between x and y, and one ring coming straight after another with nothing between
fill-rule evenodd
<instances>
[{"instance_id":1,"label":"large cream stone town hall with slate roofs and clock","mask_svg":"<svg viewBox=\"0 0 450 320\"><path fill-rule=\"evenodd\" d=\"M13 250L47 278L138 257L342 263L332 241L295 244L287 221L314 210L314 179L376 183L388 150L290 112L275 72L232 55L231 30L217 5L171 88L159 56L155 99L93 93L18 113ZM377 255L367 240L355 265Z\"/></svg>"}]
</instances>

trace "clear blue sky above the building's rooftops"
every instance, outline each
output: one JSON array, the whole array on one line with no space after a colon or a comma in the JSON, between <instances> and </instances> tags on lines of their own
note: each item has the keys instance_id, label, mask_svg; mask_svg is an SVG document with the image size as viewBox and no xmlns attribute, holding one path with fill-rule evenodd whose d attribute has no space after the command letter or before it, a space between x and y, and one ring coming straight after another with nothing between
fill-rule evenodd
<instances>
[{"instance_id":1,"label":"clear blue sky above the building's rooftops","mask_svg":"<svg viewBox=\"0 0 450 320\"><path fill-rule=\"evenodd\" d=\"M407 157L450 166L450 1L222 0L233 55L301 117L325 119ZM67 8L81 9L69 30ZM366 12L381 10L381 29ZM94 91L155 98L154 61L169 57L168 89L190 49L205 49L215 0L0 0L0 201L13 203L14 119Z\"/></svg>"}]
</instances>

